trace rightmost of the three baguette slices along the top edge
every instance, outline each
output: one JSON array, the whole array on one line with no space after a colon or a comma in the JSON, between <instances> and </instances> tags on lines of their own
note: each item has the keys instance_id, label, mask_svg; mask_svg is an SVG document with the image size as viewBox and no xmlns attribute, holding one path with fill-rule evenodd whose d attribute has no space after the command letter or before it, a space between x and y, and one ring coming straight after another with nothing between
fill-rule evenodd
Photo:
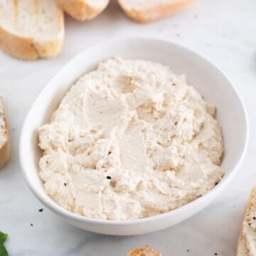
<instances>
[{"instance_id":1,"label":"rightmost of the three baguette slices along the top edge","mask_svg":"<svg viewBox=\"0 0 256 256\"><path fill-rule=\"evenodd\" d=\"M193 0L118 0L124 12L134 21L156 21L183 9Z\"/></svg>"}]
</instances>

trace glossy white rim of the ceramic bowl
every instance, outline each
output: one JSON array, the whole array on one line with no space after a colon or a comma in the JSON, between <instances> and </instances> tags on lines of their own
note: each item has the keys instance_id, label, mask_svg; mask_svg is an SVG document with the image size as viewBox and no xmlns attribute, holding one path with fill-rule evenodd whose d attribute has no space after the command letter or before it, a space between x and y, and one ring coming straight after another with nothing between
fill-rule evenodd
<instances>
[{"instance_id":1,"label":"glossy white rim of the ceramic bowl","mask_svg":"<svg viewBox=\"0 0 256 256\"><path fill-rule=\"evenodd\" d=\"M62 208L57 203L55 203L50 197L49 197L49 201L46 201L45 198L43 198L41 192L38 191L38 188L36 186L34 186L34 184L31 182L28 172L26 171L26 164L25 164L25 157L24 157L24 156L26 156L26 154L23 151L23 145L27 143L27 140L26 140L24 134L26 131L26 126L29 123L31 110L33 109L38 98L41 97L42 92L44 90L46 90L46 88L49 86L50 82L53 79L55 79L56 76L58 76L60 73L63 72L63 70L65 69L66 66L70 65L71 62L73 62L77 58L79 58L81 54L88 52L90 50L93 50L94 48L99 48L104 45L107 46L109 43L117 43L117 42L122 43L122 41L127 41L127 40L129 40L129 41L138 41L139 40L139 41L145 41L145 42L149 42L149 41L153 42L154 41L154 43L167 43L171 46L175 46L176 48L180 48L183 51L185 50L187 52L193 53L193 55L196 55L196 57L203 59L211 66L211 68L215 69L218 73L220 73L220 75L223 76L223 78L229 84L230 88L233 90L233 94L237 97L238 103L240 104L240 107L241 107L242 115L245 119L245 124L244 124L245 136L244 136L243 147L242 147L242 150L240 151L240 155L239 155L238 159L233 164L232 171L230 172L230 174L228 174L228 176L225 177L225 179L222 179L218 183L218 185L216 185L214 188L210 189L210 191L205 193L203 196L196 198L195 200L193 200L189 203L186 203L185 205L183 205L179 208L170 210L166 213L161 213L159 215L153 215L150 217L136 219L136 220L103 220L103 219L89 218L87 216L78 215L76 213L70 212L69 210L66 210L65 208ZM100 224L100 225L118 225L118 226L120 226L120 225L121 226L137 225L137 224L149 223L149 222L156 221L156 220L170 218L172 215L178 215L179 213L181 213L183 211L186 211L190 208L194 208L195 206L200 205L201 203L203 203L203 201L207 201L207 199L208 199L208 201L212 201L214 199L213 195L218 196L218 193L223 191L223 189L226 186L228 186L228 183L230 183L230 181L232 181L232 179L235 177L235 174L238 173L238 169L240 168L242 161L245 158L246 151L247 151L247 146L248 146L248 142L249 142L249 133L250 133L250 131L249 131L249 122L248 122L247 112L245 109L245 105L242 102L241 97L238 93L238 90L235 89L232 82L230 82L230 80L223 73L223 71L220 70L216 65L214 65L210 60L208 60L208 58L205 58L203 55L196 53L194 50L191 50L190 48L188 48L186 46L182 46L178 43L174 43L169 40L159 39L159 38L154 38L154 37L144 37L144 36L137 36L137 37L126 36L126 37L114 38L114 39L110 39L107 41L103 41L102 43L97 43L95 45L89 46L88 48L85 48L85 50L80 51L80 53L76 54L75 56L73 56L73 58L68 60L68 62L65 63L65 65L63 65L63 67L60 68L60 70L58 70L58 72L52 78L50 78L50 80L47 82L47 84L43 87L41 92L36 97L36 100L34 100L33 104L31 105L30 110L28 111L28 114L26 115L26 119L23 122L23 126L21 129L18 151L19 151L19 160L20 160L20 164L21 164L21 170L23 172L23 176L25 177L26 183L28 184L28 187L30 188L32 193L36 196L36 198L38 198L38 200L41 201L41 203L43 203L46 207L50 208L50 210L53 210L53 212L58 213L59 215L63 215L65 217L73 219L73 220L87 222L87 223L94 223L94 224ZM48 196L48 195L46 194L46 196ZM212 200L210 200L210 198L212 198Z\"/></svg>"}]
</instances>

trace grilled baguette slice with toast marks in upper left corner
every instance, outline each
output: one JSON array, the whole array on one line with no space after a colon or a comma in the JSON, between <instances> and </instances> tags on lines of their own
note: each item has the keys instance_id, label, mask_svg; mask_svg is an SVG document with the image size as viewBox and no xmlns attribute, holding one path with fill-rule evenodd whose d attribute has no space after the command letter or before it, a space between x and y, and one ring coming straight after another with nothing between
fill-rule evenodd
<instances>
[{"instance_id":1,"label":"grilled baguette slice with toast marks in upper left corner","mask_svg":"<svg viewBox=\"0 0 256 256\"><path fill-rule=\"evenodd\" d=\"M63 11L53 0L0 0L0 48L23 60L50 58L63 45Z\"/></svg>"}]
</instances>

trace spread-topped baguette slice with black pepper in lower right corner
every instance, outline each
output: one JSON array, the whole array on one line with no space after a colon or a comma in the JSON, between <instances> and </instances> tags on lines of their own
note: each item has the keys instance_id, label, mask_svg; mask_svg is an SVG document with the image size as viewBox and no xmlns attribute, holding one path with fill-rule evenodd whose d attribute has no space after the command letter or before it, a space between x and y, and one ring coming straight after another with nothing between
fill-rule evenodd
<instances>
[{"instance_id":1,"label":"spread-topped baguette slice with black pepper in lower right corner","mask_svg":"<svg viewBox=\"0 0 256 256\"><path fill-rule=\"evenodd\" d=\"M256 186L252 188L238 240L237 256L256 256Z\"/></svg>"}]
</instances>

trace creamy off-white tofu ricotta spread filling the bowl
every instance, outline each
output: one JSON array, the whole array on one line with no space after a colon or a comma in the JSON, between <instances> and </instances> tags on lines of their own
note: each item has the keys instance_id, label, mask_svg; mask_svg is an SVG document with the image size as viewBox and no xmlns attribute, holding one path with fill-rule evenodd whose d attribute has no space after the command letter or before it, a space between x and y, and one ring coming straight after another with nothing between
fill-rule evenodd
<instances>
[{"instance_id":1,"label":"creamy off-white tofu ricotta spread filling the bowl","mask_svg":"<svg viewBox=\"0 0 256 256\"><path fill-rule=\"evenodd\" d=\"M195 200L223 176L215 107L185 75L113 58L82 76L39 129L39 176L59 206L135 220Z\"/></svg>"}]
</instances>

